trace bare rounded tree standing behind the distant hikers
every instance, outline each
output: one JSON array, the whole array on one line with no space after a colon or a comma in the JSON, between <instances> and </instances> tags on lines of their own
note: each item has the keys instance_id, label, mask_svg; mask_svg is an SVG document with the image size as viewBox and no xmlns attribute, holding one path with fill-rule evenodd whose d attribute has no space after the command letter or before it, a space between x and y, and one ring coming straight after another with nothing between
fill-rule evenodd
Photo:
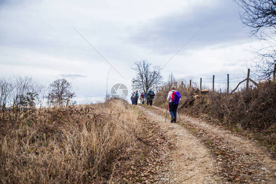
<instances>
[{"instance_id":1,"label":"bare rounded tree standing behind the distant hikers","mask_svg":"<svg viewBox=\"0 0 276 184\"><path fill-rule=\"evenodd\" d=\"M136 61L132 69L136 72L136 77L133 78L134 86L143 92L153 89L162 81L160 66L152 66L146 60Z\"/></svg>"}]
</instances>

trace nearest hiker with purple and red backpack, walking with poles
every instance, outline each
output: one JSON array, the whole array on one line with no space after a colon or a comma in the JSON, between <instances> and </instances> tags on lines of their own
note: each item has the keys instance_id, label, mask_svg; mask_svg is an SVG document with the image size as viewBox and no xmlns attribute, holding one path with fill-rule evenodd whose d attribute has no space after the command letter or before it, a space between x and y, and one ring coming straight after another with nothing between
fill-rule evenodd
<instances>
[{"instance_id":1,"label":"nearest hiker with purple and red backpack, walking with poles","mask_svg":"<svg viewBox=\"0 0 276 184\"><path fill-rule=\"evenodd\" d=\"M176 122L176 111L179 104L179 100L181 98L180 92L176 91L175 86L171 86L171 91L168 92L167 95L167 104L169 107L169 113L171 116L170 122Z\"/></svg>"}]
</instances>

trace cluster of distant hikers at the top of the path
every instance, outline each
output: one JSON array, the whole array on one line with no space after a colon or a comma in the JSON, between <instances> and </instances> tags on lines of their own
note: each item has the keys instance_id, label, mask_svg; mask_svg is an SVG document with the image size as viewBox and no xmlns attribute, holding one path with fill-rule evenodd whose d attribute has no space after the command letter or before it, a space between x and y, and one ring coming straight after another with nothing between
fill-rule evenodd
<instances>
[{"instance_id":1,"label":"cluster of distant hikers at the top of the path","mask_svg":"<svg viewBox=\"0 0 276 184\"><path fill-rule=\"evenodd\" d=\"M138 90L136 90L136 92L133 92L131 94L130 100L132 102L133 105L137 105L138 104L138 99L140 100L141 104L145 104L145 100L147 101L147 105L152 105L152 101L154 99L154 92L152 90L147 90L146 93L141 93L140 95L138 95Z\"/></svg>"}]
</instances>

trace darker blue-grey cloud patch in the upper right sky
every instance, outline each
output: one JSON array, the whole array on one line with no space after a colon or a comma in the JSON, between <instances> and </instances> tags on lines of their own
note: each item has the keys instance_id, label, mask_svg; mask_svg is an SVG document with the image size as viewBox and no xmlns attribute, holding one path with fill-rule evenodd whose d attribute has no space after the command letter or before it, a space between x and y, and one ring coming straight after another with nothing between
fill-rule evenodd
<instances>
[{"instance_id":1,"label":"darker blue-grey cloud patch in the upper right sky","mask_svg":"<svg viewBox=\"0 0 276 184\"><path fill-rule=\"evenodd\" d=\"M247 41L248 29L239 20L238 6L232 0L223 0L215 7L194 7L193 13L182 12L141 23L130 42L153 52L173 53L200 28L202 30L185 49L222 44L240 44Z\"/></svg>"}]
</instances>

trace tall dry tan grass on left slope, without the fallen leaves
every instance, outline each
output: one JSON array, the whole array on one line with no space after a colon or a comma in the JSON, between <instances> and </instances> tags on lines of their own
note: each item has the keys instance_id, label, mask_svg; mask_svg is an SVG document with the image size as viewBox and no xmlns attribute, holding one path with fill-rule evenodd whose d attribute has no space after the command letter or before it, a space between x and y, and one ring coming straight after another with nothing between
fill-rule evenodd
<instances>
[{"instance_id":1,"label":"tall dry tan grass on left slope, without the fallen leaves","mask_svg":"<svg viewBox=\"0 0 276 184\"><path fill-rule=\"evenodd\" d=\"M122 100L43 109L0 128L0 183L107 183L133 161L138 113Z\"/></svg>"}]
</instances>

